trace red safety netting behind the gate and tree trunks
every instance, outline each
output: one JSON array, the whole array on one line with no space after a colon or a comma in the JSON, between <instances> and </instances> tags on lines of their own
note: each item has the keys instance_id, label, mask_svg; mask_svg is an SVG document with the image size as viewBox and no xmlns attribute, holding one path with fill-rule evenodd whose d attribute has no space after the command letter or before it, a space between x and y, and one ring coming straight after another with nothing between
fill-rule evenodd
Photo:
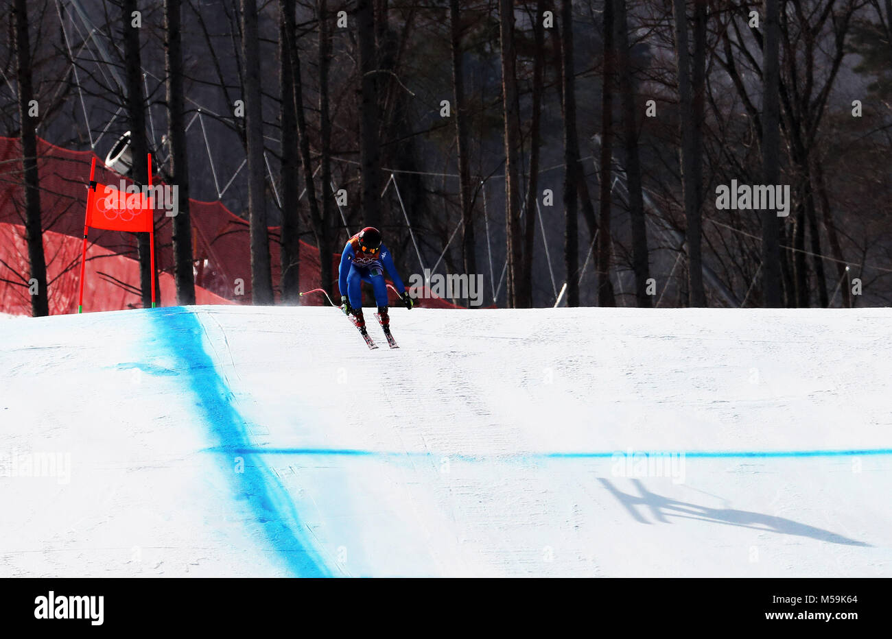
<instances>
[{"instance_id":1,"label":"red safety netting behind the gate and tree trunks","mask_svg":"<svg viewBox=\"0 0 892 639\"><path fill-rule=\"evenodd\" d=\"M44 250L48 263L50 313L77 310L80 242L87 206L87 183L93 152L69 151L37 141L37 169L40 176L40 206L45 230ZM107 168L102 159L96 163L96 182L119 185L121 176ZM129 184L130 181L125 181ZM156 182L156 184L159 184ZM196 301L199 304L250 303L251 252L248 223L219 201L190 200L195 259ZM170 217L155 212L157 264L161 272L161 305L176 303L172 287L172 250ZM22 189L21 142L19 138L0 136L0 312L30 314L27 279L28 252L24 242L24 199ZM273 286L280 273L279 229L270 227L269 249ZM136 236L118 231L89 233L87 251L86 311L140 307L139 273L136 266ZM72 247L77 250L71 252ZM337 274L340 256L331 257ZM22 261L24 259L24 261ZM321 285L318 250L301 242L301 291ZM165 284L168 282L168 284ZM337 284L334 283L335 291ZM74 296L70 291L75 291ZM244 291L244 292L243 292ZM243 294L236 294L243 293ZM391 291L392 301L396 301ZM326 304L321 295L301 300L307 305ZM425 296L425 307L457 308L445 299Z\"/></svg>"}]
</instances>

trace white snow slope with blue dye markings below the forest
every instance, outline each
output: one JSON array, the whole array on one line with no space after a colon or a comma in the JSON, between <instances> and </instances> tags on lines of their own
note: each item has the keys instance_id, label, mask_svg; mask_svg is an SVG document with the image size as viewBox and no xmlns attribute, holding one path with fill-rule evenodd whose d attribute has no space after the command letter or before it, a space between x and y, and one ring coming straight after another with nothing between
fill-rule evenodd
<instances>
[{"instance_id":1,"label":"white snow slope with blue dye markings below the forest","mask_svg":"<svg viewBox=\"0 0 892 639\"><path fill-rule=\"evenodd\" d=\"M888 309L392 317L4 321L0 576L892 575Z\"/></svg>"}]
</instances>

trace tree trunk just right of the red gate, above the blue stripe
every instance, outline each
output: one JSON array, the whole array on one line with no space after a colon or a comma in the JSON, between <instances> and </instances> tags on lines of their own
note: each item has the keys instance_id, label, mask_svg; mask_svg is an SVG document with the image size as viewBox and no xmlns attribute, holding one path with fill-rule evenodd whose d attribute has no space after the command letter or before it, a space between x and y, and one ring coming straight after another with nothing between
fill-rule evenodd
<instances>
[{"instance_id":1,"label":"tree trunk just right of the red gate, above the blue stripe","mask_svg":"<svg viewBox=\"0 0 892 639\"><path fill-rule=\"evenodd\" d=\"M177 186L177 215L173 227L173 276L179 305L195 303L192 222L189 214L189 164L186 153L186 106L183 90L183 45L180 0L164 0L164 47L168 103L170 179Z\"/></svg>"}]
</instances>

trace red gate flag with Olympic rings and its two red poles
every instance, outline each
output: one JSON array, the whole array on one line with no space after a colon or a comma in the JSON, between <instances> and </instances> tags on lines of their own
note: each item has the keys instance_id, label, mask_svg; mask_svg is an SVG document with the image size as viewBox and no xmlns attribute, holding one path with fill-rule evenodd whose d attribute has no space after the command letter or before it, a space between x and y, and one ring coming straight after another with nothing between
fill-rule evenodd
<instances>
[{"instance_id":1,"label":"red gate flag with Olympic rings and its two red poles","mask_svg":"<svg viewBox=\"0 0 892 639\"><path fill-rule=\"evenodd\" d=\"M149 164L149 186L152 186L152 154ZM87 219L84 220L84 246L80 253L80 286L78 313L84 310L84 274L87 268L87 231L103 228L109 231L149 233L149 256L152 263L152 307L155 307L155 230L152 200L140 193L126 193L105 184L96 184L96 159L90 163L90 185L87 189Z\"/></svg>"}]
</instances>

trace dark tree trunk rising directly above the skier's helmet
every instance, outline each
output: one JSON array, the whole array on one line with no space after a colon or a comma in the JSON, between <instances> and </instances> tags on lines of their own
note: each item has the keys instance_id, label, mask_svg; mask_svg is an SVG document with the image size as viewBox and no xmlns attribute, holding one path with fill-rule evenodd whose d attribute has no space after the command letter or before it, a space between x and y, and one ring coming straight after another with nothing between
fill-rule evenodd
<instances>
[{"instance_id":1,"label":"dark tree trunk rising directly above the skier's helmet","mask_svg":"<svg viewBox=\"0 0 892 639\"><path fill-rule=\"evenodd\" d=\"M378 148L377 55L375 47L375 8L373 0L358 0L359 20L359 164L362 170L362 214L365 225L381 225L381 176Z\"/></svg>"}]
</instances>

